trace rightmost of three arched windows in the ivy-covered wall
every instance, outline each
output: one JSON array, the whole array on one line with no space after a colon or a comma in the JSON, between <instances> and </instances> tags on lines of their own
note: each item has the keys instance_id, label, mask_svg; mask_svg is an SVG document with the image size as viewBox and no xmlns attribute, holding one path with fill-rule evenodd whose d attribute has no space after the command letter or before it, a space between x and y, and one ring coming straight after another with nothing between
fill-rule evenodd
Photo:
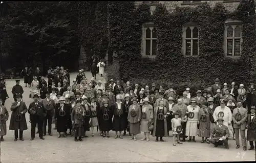
<instances>
[{"instance_id":1,"label":"rightmost of three arched windows in the ivy-covered wall","mask_svg":"<svg viewBox=\"0 0 256 163\"><path fill-rule=\"evenodd\" d=\"M225 54L227 57L240 57L242 49L242 29L239 21L227 20L225 24Z\"/></svg>"}]
</instances>

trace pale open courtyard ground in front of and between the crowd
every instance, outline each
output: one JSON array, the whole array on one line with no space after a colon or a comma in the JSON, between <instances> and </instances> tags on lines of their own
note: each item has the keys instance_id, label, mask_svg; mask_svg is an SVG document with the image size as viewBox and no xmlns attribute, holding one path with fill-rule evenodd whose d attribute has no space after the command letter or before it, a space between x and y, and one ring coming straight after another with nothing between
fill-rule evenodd
<instances>
[{"instance_id":1,"label":"pale open courtyard ground in front of and between the crowd","mask_svg":"<svg viewBox=\"0 0 256 163\"><path fill-rule=\"evenodd\" d=\"M76 73L71 74L71 81L76 77ZM86 73L90 80L91 73ZM103 80L97 75L97 80ZM21 79L21 85L24 81ZM7 80L7 91L10 99L6 101L6 107L10 112L13 102L11 89L15 85L14 79ZM27 107L30 88L24 88L24 101ZM9 117L10 118L10 117ZM91 136L91 131L87 133L88 138L83 142L74 142L74 137L57 138L56 130L53 136L45 136L41 140L36 134L34 141L30 141L29 114L26 114L28 130L24 132L25 141L13 142L14 131L7 131L5 142L1 142L2 162L195 162L195 161L254 161L255 151L243 151L242 147L236 149L235 141L229 141L229 150L224 147L214 147L212 144L201 144L201 138L196 137L196 143L185 142L183 145L174 147L172 137L164 137L166 142L155 142L151 137L150 142L142 142L142 134L135 142L124 136L123 139L114 139L114 132L110 138L103 138L99 134ZM10 120L7 122L9 128ZM249 143L248 143L249 144Z\"/></svg>"}]
</instances>

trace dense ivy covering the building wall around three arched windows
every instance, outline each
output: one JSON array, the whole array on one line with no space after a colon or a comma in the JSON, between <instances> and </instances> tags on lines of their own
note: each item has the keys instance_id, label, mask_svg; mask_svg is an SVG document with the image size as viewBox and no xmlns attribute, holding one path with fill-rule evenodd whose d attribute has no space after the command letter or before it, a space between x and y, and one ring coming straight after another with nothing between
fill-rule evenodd
<instances>
[{"instance_id":1,"label":"dense ivy covering the building wall around three arched windows","mask_svg":"<svg viewBox=\"0 0 256 163\"><path fill-rule=\"evenodd\" d=\"M196 8L177 7L169 13L159 4L153 15L150 6L145 4L137 9L134 9L134 2L115 2L110 6L111 46L119 67L108 69L107 73L114 71L109 79L129 80L142 86L154 82L164 87L167 83L178 83L181 87L200 83L200 87L206 87L215 78L226 83L244 84L250 78L256 78L254 2L242 1L233 12L228 12L222 3L217 3L213 9L204 3ZM224 56L224 22L229 18L243 22L239 59ZM158 53L154 60L141 56L142 25L150 21L157 29ZM199 26L198 57L184 57L181 52L185 22L196 22Z\"/></svg>"}]
</instances>

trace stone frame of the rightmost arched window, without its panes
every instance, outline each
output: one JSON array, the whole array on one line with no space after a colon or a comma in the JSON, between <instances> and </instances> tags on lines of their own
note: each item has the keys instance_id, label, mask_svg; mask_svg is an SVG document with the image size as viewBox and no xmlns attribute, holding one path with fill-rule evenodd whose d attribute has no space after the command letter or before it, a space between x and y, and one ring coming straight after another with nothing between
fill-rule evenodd
<instances>
[{"instance_id":1,"label":"stone frame of the rightmost arched window, without its panes","mask_svg":"<svg viewBox=\"0 0 256 163\"><path fill-rule=\"evenodd\" d=\"M232 33L232 37L227 37L227 30L228 28L231 27L233 29L233 33ZM239 27L240 28L240 37L235 37L234 33L235 33L235 28ZM234 20L234 19L228 19L225 21L225 31L224 31L224 54L226 57L229 58L240 58L241 54L242 54L242 43L243 43L243 39L242 39L242 21L240 20ZM227 40L228 39L232 39L232 55L227 55ZM235 56L235 41L236 39L240 39L240 55L239 56Z\"/></svg>"}]
</instances>

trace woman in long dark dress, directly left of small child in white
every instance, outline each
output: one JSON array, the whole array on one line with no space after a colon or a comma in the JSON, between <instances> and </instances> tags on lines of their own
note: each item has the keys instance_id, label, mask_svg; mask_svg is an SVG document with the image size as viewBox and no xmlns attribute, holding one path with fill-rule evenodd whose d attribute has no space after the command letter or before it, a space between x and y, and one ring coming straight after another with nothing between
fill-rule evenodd
<instances>
[{"instance_id":1,"label":"woman in long dark dress, directly left of small child in white","mask_svg":"<svg viewBox=\"0 0 256 163\"><path fill-rule=\"evenodd\" d=\"M158 142L158 137L160 137L160 141L163 142L163 136L167 136L167 123L166 123L166 115L167 109L163 106L164 101L159 101L159 106L155 107L153 114L153 136L156 136L156 142Z\"/></svg>"}]
</instances>

